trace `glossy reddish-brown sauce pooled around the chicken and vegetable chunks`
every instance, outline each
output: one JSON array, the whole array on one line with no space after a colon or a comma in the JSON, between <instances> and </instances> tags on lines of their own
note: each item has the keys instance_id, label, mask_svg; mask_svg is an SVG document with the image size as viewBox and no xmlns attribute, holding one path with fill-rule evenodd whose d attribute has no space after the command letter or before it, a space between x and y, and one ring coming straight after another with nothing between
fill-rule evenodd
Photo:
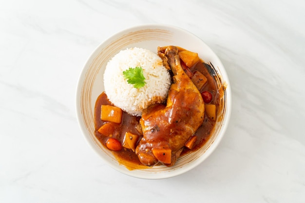
<instances>
[{"instance_id":1,"label":"glossy reddish-brown sauce pooled around the chicken and vegetable chunks","mask_svg":"<svg viewBox=\"0 0 305 203\"><path fill-rule=\"evenodd\" d=\"M191 72L199 71L201 72L208 80L207 83L200 89L200 92L209 91L212 94L211 104L218 105L219 94L217 92L217 85L213 77L213 73L211 72L210 65L198 62L193 67L190 68ZM105 92L101 93L96 100L95 103L95 136L96 138L103 144L106 145L107 139L111 136L121 143L123 142L123 138L126 132L133 133L135 135L139 135L138 141L142 138L141 133L138 132L137 127L139 127L139 120L141 117L131 116L125 112L122 115L122 122L120 124L115 125L114 132L108 132L107 135L102 135L97 130L104 125L106 122L100 119L101 113L101 105L113 105L107 98ZM189 152L193 152L202 147L210 137L211 131L215 126L215 121L210 120L205 115L204 122L202 126L198 128L194 135L197 136L194 147L190 150L188 148L184 148L181 155L185 155ZM137 155L130 149L122 148L120 151L112 151L117 158L117 160L124 165L129 165L130 169L141 168L142 164L140 163ZM131 166L134 165L134 166Z\"/></svg>"}]
</instances>

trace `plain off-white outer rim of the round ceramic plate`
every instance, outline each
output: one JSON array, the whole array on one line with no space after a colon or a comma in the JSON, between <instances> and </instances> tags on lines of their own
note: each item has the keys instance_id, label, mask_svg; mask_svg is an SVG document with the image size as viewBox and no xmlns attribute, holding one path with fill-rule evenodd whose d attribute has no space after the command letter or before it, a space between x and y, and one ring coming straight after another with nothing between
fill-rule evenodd
<instances>
[{"instance_id":1,"label":"plain off-white outer rim of the round ceramic plate","mask_svg":"<svg viewBox=\"0 0 305 203\"><path fill-rule=\"evenodd\" d=\"M118 36L121 36L124 33L127 32L132 32L134 30L143 30L143 29L171 29L174 30L176 32L183 32L189 35L192 35L193 37L195 37L197 40L200 40L203 44L206 45L206 47L208 49L210 49L210 47L198 36L196 36L195 34L192 34L191 32L177 27L177 26L173 26L173 25L167 25L167 24L142 24L142 25L137 25L137 26L133 26L133 27L129 27L126 29L123 29L121 31L118 31L116 33L114 33L113 35L111 35L110 37L106 38L105 40L103 40L89 55L89 57L87 58L85 64L82 66L82 70L78 76L78 80L77 80L77 85L76 85L76 102L75 102L75 108L76 108L76 118L77 118L77 123L78 126L82 132L83 137L85 138L87 144L91 147L91 149L93 149L95 151L95 153L97 153L99 155L99 157L102 158L103 162L107 165L109 165L110 167L112 167L113 169L116 169L117 171L135 177L135 178L141 178L141 179L164 179L164 178L170 178L170 177L174 177L177 175L180 175L182 173L185 173L187 171L190 171L191 169L194 169L195 167L197 167L199 164L201 164L206 158L208 158L210 156L210 154L212 152L214 152L214 150L217 148L217 146L219 145L219 143L221 142L224 134L227 131L228 125L229 125L229 120L230 120L230 116L231 116L231 87L230 87L230 83L229 83L229 77L227 75L227 71L225 69L225 67L223 66L221 60L219 59L219 57L216 55L216 53L214 51L211 51L211 53L213 54L213 57L215 59L217 59L217 63L218 66L221 66L222 72L221 75L223 78L225 78L227 87L226 87L226 113L224 115L223 118L223 122L222 122L222 126L220 127L219 133L216 136L216 138L214 139L213 143L212 143L212 147L209 147L204 154L202 154L200 157L198 157L197 159L191 161L191 165L188 164L184 167L175 169L175 170L170 170L168 172L161 172L161 173L154 173L154 175L149 175L147 173L136 173L135 171L138 170L123 170L122 167L125 167L123 165L117 164L117 163L109 163L109 161L100 153L100 149L96 146L95 142L91 139L90 136L87 136L86 134L88 134L87 128L84 125L84 121L83 121L83 117L82 117L82 112L80 110L81 108L81 104L80 104L80 97L81 97L81 90L83 87L83 82L85 79L85 75L87 70L90 68L90 65L92 63L92 61L94 60L94 58L96 57L96 55L98 54L98 50L101 49L101 47L105 46L107 43L109 43L110 41L112 41L113 39L117 38Z\"/></svg>"}]
</instances>

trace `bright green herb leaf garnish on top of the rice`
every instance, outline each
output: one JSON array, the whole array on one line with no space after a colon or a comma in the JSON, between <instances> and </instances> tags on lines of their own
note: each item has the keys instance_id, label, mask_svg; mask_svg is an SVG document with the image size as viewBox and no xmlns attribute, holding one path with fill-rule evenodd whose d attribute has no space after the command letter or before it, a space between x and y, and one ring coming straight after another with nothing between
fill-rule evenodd
<instances>
[{"instance_id":1,"label":"bright green herb leaf garnish on top of the rice","mask_svg":"<svg viewBox=\"0 0 305 203\"><path fill-rule=\"evenodd\" d=\"M142 67L129 68L123 71L123 75L127 83L135 88L141 88L146 84Z\"/></svg>"}]
</instances>

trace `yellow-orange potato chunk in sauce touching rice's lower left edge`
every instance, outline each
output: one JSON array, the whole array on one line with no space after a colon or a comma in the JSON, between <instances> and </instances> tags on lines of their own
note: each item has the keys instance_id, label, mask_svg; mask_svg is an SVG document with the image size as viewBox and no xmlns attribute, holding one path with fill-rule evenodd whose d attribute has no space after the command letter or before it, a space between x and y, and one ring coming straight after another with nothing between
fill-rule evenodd
<instances>
[{"instance_id":1,"label":"yellow-orange potato chunk in sauce touching rice's lower left edge","mask_svg":"<svg viewBox=\"0 0 305 203\"><path fill-rule=\"evenodd\" d=\"M111 105L101 105L101 120L121 123L122 109Z\"/></svg>"}]
</instances>

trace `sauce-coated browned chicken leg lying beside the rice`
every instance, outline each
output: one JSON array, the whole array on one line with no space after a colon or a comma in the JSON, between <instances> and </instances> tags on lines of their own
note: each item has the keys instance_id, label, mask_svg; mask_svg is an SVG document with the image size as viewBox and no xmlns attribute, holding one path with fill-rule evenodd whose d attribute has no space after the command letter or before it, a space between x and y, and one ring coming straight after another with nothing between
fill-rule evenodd
<instances>
[{"instance_id":1,"label":"sauce-coated browned chicken leg lying beside the rice","mask_svg":"<svg viewBox=\"0 0 305 203\"><path fill-rule=\"evenodd\" d=\"M142 113L143 138L135 152L141 163L153 166L160 162L153 155L153 149L170 149L171 160L163 164L172 166L185 143L202 124L205 109L200 92L181 67L178 48L159 47L158 54L165 66L172 69L173 84L166 105L155 104Z\"/></svg>"}]
</instances>

